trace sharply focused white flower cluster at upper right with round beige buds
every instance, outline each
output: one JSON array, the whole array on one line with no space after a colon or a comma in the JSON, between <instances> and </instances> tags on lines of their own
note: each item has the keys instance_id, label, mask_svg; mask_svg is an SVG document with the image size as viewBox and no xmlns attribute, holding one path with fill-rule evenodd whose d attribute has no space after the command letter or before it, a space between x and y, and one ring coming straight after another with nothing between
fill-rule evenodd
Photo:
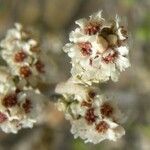
<instances>
[{"instance_id":1,"label":"sharply focused white flower cluster at upper right with round beige buds","mask_svg":"<svg viewBox=\"0 0 150 150\"><path fill-rule=\"evenodd\" d=\"M89 19L76 21L79 26L70 33L70 43L63 50L71 58L71 73L82 82L118 80L121 71L130 66L127 31L119 19L108 22L101 11Z\"/></svg>"}]
</instances>

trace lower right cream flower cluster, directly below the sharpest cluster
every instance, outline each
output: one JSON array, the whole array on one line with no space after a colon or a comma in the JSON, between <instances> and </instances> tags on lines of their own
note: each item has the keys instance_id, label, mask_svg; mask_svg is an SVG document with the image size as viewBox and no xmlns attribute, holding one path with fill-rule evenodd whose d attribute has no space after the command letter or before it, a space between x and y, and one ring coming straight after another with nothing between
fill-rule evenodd
<instances>
[{"instance_id":1,"label":"lower right cream flower cluster, directly below the sharpest cluster","mask_svg":"<svg viewBox=\"0 0 150 150\"><path fill-rule=\"evenodd\" d=\"M71 80L58 85L56 92L63 94L56 105L71 122L75 138L96 144L105 139L116 141L125 134L120 125L124 116L107 97Z\"/></svg>"}]
</instances>

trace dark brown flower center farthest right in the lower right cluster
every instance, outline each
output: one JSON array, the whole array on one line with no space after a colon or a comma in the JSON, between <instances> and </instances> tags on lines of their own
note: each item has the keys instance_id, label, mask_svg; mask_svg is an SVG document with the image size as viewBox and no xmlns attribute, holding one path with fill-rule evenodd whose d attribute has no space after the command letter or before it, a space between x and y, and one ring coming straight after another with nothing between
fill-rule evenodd
<instances>
[{"instance_id":1,"label":"dark brown flower center farthest right in the lower right cluster","mask_svg":"<svg viewBox=\"0 0 150 150\"><path fill-rule=\"evenodd\" d=\"M113 108L108 103L104 103L100 108L100 112L103 116L110 117L113 114Z\"/></svg>"}]
</instances>

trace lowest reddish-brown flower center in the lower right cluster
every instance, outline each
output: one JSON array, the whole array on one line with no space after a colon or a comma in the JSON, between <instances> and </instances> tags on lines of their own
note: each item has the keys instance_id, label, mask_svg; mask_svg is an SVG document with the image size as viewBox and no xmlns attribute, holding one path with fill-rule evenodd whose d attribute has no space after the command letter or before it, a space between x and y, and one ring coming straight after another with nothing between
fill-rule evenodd
<instances>
[{"instance_id":1,"label":"lowest reddish-brown flower center in the lower right cluster","mask_svg":"<svg viewBox=\"0 0 150 150\"><path fill-rule=\"evenodd\" d=\"M109 128L109 125L105 121L99 122L99 124L96 125L96 130L99 133L105 133Z\"/></svg>"}]
</instances>

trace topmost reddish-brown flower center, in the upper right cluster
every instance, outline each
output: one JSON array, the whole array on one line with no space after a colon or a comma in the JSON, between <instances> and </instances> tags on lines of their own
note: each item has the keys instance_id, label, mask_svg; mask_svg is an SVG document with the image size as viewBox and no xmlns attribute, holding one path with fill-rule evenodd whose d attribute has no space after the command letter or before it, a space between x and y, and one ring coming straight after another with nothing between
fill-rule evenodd
<instances>
[{"instance_id":1,"label":"topmost reddish-brown flower center, in the upper right cluster","mask_svg":"<svg viewBox=\"0 0 150 150\"><path fill-rule=\"evenodd\" d=\"M100 30L100 24L97 22L89 22L84 29L85 34L94 35Z\"/></svg>"}]
</instances>

